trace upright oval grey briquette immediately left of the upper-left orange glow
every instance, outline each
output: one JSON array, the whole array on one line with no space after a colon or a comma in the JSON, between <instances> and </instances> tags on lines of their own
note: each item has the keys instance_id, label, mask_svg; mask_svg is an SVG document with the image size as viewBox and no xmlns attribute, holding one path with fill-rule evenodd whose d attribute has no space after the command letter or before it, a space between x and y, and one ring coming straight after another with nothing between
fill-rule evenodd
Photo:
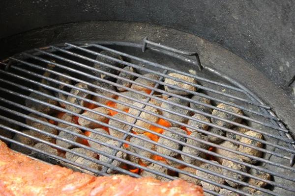
<instances>
[{"instance_id":1,"label":"upright oval grey briquette immediately left of the upper-left orange glow","mask_svg":"<svg viewBox=\"0 0 295 196\"><path fill-rule=\"evenodd\" d=\"M78 84L75 84L75 86L78 87L78 88L84 89L84 90L89 90L89 86L86 85L86 84L78 83ZM80 96L82 98L87 98L87 99L91 98L91 95L89 95L88 93L82 92L82 91L80 91L78 89L74 89L74 88L71 90L70 93L73 94L73 95L76 95L76 96ZM79 99L79 98L74 98L74 97L71 97L71 96L68 96L68 98L66 100L68 102L70 102L70 103L74 103L76 105L84 106L84 107L86 107L87 104L88 104L87 101L84 101L84 100ZM67 110L70 110L70 111L78 113L78 114L81 114L84 111L83 109L80 109L80 108L77 108L75 106L68 105L68 104L65 105L65 108Z\"/></svg>"}]
</instances>

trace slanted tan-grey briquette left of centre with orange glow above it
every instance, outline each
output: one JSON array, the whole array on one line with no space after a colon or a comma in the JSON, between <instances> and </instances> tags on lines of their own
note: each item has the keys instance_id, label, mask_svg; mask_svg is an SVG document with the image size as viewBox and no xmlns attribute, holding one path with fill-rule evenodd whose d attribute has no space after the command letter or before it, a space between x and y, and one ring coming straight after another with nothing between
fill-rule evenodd
<instances>
[{"instance_id":1,"label":"slanted tan-grey briquette left of centre with orange glow above it","mask_svg":"<svg viewBox=\"0 0 295 196\"><path fill-rule=\"evenodd\" d=\"M108 110L107 108L104 108L104 107L97 107L97 108L95 108L93 110L96 111L96 112L99 112L101 114L111 115L110 110ZM109 119L107 117L95 114L95 113L93 113L91 111L84 112L82 115L86 116L86 117L89 117L92 120L96 120L96 121L99 121L99 122L102 122L102 123L108 123L108 121L109 121ZM82 125L82 126L85 126L87 128L91 128L91 129L103 127L103 125L101 125L101 124L98 124L98 123L83 119L82 117L79 117L78 123L80 125Z\"/></svg>"}]
</instances>

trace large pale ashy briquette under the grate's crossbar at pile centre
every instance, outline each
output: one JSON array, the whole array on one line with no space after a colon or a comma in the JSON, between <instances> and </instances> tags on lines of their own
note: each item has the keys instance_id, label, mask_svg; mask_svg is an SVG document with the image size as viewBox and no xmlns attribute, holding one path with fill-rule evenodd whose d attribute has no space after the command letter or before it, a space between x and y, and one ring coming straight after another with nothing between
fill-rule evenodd
<instances>
[{"instance_id":1,"label":"large pale ashy briquette under the grate's crossbar at pile centre","mask_svg":"<svg viewBox=\"0 0 295 196\"><path fill-rule=\"evenodd\" d=\"M144 104L142 104L142 103L133 103L133 105L136 106L136 107L139 107L139 108L144 107ZM155 114L160 113L159 109L148 106L148 105L145 107L145 110L147 110L149 112L152 112L152 113L155 113ZM138 112L139 112L139 110L137 110L137 109L134 109L134 108L129 109L129 114L133 114L133 115L136 116ZM153 116L153 115L148 114L146 112L142 112L139 117L143 118L145 120L148 120L148 121L150 121L152 123L157 123L160 120L159 117ZM127 122L132 123L134 121L134 118L127 117L126 120L127 120ZM147 128L147 129L149 129L149 127L152 126L150 123L146 123L146 122L143 122L143 121L140 121L140 120L137 120L135 124L138 125L138 126L141 126L143 128ZM134 132L137 132L137 133L144 133L145 132L144 130L136 128L136 127L133 127L132 130Z\"/></svg>"}]
</instances>

